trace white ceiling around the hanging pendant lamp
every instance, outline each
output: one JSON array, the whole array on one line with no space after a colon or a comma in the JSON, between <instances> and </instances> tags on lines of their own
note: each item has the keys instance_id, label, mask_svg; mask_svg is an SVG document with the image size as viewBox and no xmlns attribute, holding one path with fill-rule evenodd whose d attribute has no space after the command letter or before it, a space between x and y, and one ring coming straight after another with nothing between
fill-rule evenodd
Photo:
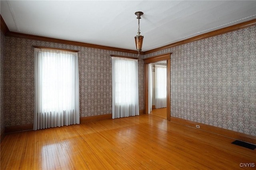
<instances>
[{"instance_id":1,"label":"white ceiling around the hanging pendant lamp","mask_svg":"<svg viewBox=\"0 0 256 170\"><path fill-rule=\"evenodd\" d=\"M9 30L135 50L138 19L142 51L256 18L256 1L1 0Z\"/></svg>"}]
</instances>

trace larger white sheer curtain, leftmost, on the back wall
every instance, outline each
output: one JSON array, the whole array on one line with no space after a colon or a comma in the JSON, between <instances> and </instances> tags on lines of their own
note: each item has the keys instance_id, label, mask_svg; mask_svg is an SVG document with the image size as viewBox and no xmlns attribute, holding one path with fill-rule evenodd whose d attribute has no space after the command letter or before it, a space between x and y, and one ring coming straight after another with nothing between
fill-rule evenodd
<instances>
[{"instance_id":1,"label":"larger white sheer curtain, leftmost, on the back wall","mask_svg":"<svg viewBox=\"0 0 256 170\"><path fill-rule=\"evenodd\" d=\"M34 49L34 130L79 124L78 54Z\"/></svg>"}]
</instances>

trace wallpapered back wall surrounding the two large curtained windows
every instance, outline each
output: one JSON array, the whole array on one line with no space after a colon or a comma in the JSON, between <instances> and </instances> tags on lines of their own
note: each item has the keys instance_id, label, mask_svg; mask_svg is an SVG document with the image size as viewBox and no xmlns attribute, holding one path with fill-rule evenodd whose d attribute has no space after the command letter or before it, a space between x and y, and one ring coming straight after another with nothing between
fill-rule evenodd
<instances>
[{"instance_id":1,"label":"wallpapered back wall surrounding the two large curtained windows","mask_svg":"<svg viewBox=\"0 0 256 170\"><path fill-rule=\"evenodd\" d=\"M80 117L112 113L111 54L136 54L92 49L73 45L6 37L5 126L32 124L34 120L34 47L74 49L78 52ZM139 105L144 109L144 67L138 61Z\"/></svg>"}]
</instances>

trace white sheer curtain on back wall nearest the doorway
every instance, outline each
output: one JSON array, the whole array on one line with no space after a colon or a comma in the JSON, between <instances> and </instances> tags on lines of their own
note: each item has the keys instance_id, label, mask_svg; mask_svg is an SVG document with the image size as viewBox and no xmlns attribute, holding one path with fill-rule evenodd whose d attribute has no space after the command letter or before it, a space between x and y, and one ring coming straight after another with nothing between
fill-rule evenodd
<instances>
[{"instance_id":1,"label":"white sheer curtain on back wall nearest the doorway","mask_svg":"<svg viewBox=\"0 0 256 170\"><path fill-rule=\"evenodd\" d=\"M139 115L138 60L112 57L112 119Z\"/></svg>"}]
</instances>

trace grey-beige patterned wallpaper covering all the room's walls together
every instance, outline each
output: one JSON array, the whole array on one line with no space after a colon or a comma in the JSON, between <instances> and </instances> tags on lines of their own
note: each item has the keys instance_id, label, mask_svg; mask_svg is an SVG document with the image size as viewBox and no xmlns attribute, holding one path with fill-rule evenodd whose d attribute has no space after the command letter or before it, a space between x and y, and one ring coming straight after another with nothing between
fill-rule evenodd
<instances>
[{"instance_id":1,"label":"grey-beige patterned wallpaper covering all the room's walls together","mask_svg":"<svg viewBox=\"0 0 256 170\"><path fill-rule=\"evenodd\" d=\"M172 117L256 136L255 37L256 26L252 26L140 57L172 53ZM110 54L137 56L20 38L5 39L5 126L33 123L32 45L80 50L80 117L112 112ZM139 105L144 109L143 61L139 59L138 64Z\"/></svg>"}]
</instances>

